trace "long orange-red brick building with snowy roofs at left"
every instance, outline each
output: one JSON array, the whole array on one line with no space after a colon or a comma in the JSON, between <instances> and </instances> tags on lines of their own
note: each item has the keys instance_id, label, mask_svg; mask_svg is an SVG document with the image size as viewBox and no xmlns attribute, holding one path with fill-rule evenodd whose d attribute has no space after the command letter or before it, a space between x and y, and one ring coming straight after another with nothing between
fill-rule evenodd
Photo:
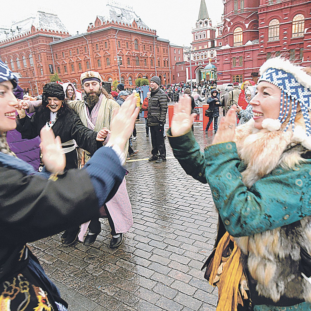
<instances>
[{"instance_id":1,"label":"long orange-red brick building with snowy roofs at left","mask_svg":"<svg viewBox=\"0 0 311 311\"><path fill-rule=\"evenodd\" d=\"M99 71L104 81L119 80L126 87L153 75L162 83L165 75L170 83L169 41L159 38L131 7L115 5L108 4L106 16L97 16L84 34L70 36L58 16L44 12L2 28L1 60L20 73L21 87L34 95L54 72L79 89L80 74L86 70Z\"/></svg>"}]
</instances>

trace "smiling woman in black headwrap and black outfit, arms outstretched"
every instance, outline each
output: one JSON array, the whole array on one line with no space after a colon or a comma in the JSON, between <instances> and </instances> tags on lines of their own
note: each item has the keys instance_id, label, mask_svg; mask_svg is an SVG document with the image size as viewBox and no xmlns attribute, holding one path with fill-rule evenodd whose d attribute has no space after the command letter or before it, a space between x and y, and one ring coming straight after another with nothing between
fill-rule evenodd
<instances>
[{"instance_id":1,"label":"smiling woman in black headwrap and black outfit, arms outstretched","mask_svg":"<svg viewBox=\"0 0 311 311\"><path fill-rule=\"evenodd\" d=\"M17 112L16 129L22 138L32 139L38 136L44 126L53 128L55 136L59 136L62 142L66 169L78 167L75 141L80 148L93 155L102 146L102 141L108 134L105 130L96 133L85 127L79 116L67 105L63 87L53 82L43 87L42 106L30 118L26 116L24 109ZM64 244L73 244L78 233L79 227L66 230L62 236Z\"/></svg>"}]
</instances>

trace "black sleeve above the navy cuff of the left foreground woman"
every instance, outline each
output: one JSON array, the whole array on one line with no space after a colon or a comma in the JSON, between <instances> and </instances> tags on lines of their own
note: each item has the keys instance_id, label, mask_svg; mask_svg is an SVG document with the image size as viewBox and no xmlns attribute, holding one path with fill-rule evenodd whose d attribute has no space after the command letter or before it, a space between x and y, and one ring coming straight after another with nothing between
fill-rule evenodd
<instances>
[{"instance_id":1,"label":"black sleeve above the navy cuff of the left foreground woman","mask_svg":"<svg viewBox=\"0 0 311 311\"><path fill-rule=\"evenodd\" d=\"M99 215L86 170L71 169L52 181L0 166L0 182L2 244L35 241Z\"/></svg>"}]
</instances>

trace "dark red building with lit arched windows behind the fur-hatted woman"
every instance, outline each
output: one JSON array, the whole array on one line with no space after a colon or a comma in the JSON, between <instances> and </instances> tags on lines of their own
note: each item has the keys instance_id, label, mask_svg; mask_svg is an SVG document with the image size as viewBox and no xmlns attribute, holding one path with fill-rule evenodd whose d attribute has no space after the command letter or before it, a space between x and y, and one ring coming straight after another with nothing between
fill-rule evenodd
<instances>
[{"instance_id":1,"label":"dark red building with lit arched windows behind the fur-hatted woman","mask_svg":"<svg viewBox=\"0 0 311 311\"><path fill-rule=\"evenodd\" d=\"M310 13L306 0L227 0L217 39L219 84L257 81L259 67L278 55L310 66Z\"/></svg>"}]
</instances>

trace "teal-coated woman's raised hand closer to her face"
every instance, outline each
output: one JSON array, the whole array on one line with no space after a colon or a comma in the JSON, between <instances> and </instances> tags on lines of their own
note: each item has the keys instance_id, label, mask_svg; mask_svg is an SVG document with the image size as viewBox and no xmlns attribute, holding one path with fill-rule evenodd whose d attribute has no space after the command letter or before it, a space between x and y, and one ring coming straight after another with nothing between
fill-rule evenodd
<instances>
[{"instance_id":1,"label":"teal-coated woman's raised hand closer to her face","mask_svg":"<svg viewBox=\"0 0 311 311\"><path fill-rule=\"evenodd\" d=\"M218 131L215 134L213 145L222 142L232 142L235 135L236 105L232 105L225 117L222 117L218 124Z\"/></svg>"}]
</instances>

